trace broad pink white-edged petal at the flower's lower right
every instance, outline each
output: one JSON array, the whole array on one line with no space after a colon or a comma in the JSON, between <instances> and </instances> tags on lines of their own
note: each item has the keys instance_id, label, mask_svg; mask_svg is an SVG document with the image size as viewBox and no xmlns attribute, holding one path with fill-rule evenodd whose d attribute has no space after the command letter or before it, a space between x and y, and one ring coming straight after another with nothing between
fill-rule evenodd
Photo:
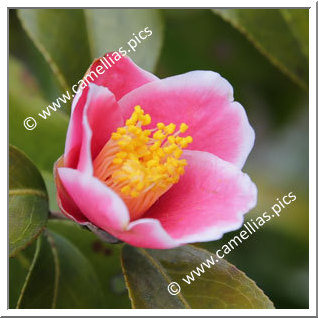
<instances>
[{"instance_id":1,"label":"broad pink white-edged petal at the flower's lower right","mask_svg":"<svg viewBox=\"0 0 318 318\"><path fill-rule=\"evenodd\" d=\"M217 240L241 227L256 204L248 175L227 161L201 151L185 151L185 174L150 208L146 218L161 222L179 243Z\"/></svg>"}]
</instances>

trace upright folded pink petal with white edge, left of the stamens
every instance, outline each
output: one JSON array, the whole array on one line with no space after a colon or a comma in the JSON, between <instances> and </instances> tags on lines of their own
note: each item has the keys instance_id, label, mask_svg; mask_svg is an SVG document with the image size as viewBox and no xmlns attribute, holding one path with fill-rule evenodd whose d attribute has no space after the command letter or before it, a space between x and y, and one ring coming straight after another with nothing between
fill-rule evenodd
<instances>
[{"instance_id":1,"label":"upright folded pink petal with white edge, left of the stamens","mask_svg":"<svg viewBox=\"0 0 318 318\"><path fill-rule=\"evenodd\" d=\"M85 101L85 103L84 103ZM123 125L114 95L106 88L89 84L73 102L66 138L65 166L92 174L92 159L103 148L111 133Z\"/></svg>"}]
</instances>

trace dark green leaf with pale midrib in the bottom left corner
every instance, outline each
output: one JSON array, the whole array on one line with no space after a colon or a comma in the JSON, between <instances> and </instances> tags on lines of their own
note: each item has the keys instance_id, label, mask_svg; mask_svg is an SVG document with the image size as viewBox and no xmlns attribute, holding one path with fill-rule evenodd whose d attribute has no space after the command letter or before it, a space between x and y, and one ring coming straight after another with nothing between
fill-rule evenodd
<instances>
[{"instance_id":1,"label":"dark green leaf with pale midrib in the bottom left corner","mask_svg":"<svg viewBox=\"0 0 318 318\"><path fill-rule=\"evenodd\" d=\"M89 261L68 240L46 231L36 251L17 308L99 308L103 299Z\"/></svg>"}]
</instances>

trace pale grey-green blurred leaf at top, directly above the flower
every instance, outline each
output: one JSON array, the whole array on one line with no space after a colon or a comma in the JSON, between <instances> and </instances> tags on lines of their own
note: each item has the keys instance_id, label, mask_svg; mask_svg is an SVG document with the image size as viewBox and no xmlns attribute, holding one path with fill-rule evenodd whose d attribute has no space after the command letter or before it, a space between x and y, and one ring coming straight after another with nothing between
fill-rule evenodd
<instances>
[{"instance_id":1,"label":"pale grey-green blurred leaf at top, directly above the flower","mask_svg":"<svg viewBox=\"0 0 318 318\"><path fill-rule=\"evenodd\" d=\"M130 50L128 55L140 67L153 71L163 39L163 22L159 10L154 9L86 9L87 32L92 56L97 58L105 52L117 51L120 47ZM135 35L146 27L152 31L144 40ZM148 33L149 34L149 33ZM145 37L145 33L142 34ZM135 52L128 42L136 42Z\"/></svg>"}]
</instances>

